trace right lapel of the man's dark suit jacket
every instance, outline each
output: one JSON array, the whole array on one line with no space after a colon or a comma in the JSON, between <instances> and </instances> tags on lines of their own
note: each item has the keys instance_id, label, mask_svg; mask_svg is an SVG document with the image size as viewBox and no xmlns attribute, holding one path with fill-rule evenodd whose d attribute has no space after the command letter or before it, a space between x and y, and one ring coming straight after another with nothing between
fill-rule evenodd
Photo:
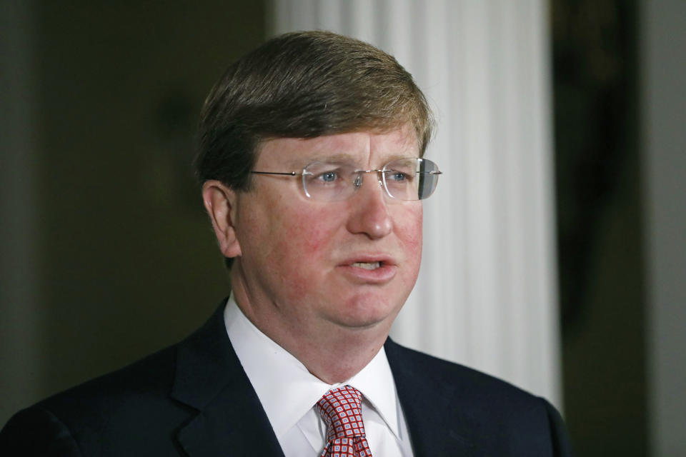
<instances>
[{"instance_id":1,"label":"right lapel of the man's dark suit jacket","mask_svg":"<svg viewBox=\"0 0 686 457\"><path fill-rule=\"evenodd\" d=\"M454 386L432 376L416 353L387 340L386 356L393 372L400 405L407 421L414 455L479 456L465 434L474 424L461 414Z\"/></svg>"}]
</instances>

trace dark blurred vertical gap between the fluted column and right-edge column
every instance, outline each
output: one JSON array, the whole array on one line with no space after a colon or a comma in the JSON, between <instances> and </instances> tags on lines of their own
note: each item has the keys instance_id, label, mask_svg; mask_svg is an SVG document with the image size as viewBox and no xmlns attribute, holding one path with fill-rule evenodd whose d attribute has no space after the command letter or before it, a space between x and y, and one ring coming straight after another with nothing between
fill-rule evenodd
<instances>
[{"instance_id":1,"label":"dark blurred vertical gap between the fluted column and right-edge column","mask_svg":"<svg viewBox=\"0 0 686 457\"><path fill-rule=\"evenodd\" d=\"M562 378L580 456L648 450L637 14L552 2Z\"/></svg>"}]
</instances>

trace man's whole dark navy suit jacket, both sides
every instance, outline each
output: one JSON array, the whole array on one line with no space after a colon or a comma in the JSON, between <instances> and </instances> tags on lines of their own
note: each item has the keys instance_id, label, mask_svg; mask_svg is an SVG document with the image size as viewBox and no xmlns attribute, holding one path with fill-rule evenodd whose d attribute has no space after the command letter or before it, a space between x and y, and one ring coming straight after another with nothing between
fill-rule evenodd
<instances>
[{"instance_id":1,"label":"man's whole dark navy suit jacket, both sides","mask_svg":"<svg viewBox=\"0 0 686 457\"><path fill-rule=\"evenodd\" d=\"M222 309L181 343L16 413L0 456L282 456ZM385 348L417 457L570 455L542 398L390 340Z\"/></svg>"}]
</instances>

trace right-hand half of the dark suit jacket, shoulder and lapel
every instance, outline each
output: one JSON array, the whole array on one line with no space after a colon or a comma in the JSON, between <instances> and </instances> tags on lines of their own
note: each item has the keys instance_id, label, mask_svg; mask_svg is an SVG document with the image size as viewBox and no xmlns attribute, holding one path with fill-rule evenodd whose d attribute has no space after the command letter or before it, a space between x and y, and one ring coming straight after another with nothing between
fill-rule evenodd
<instances>
[{"instance_id":1,"label":"right-hand half of the dark suit jacket, shoulder and lapel","mask_svg":"<svg viewBox=\"0 0 686 457\"><path fill-rule=\"evenodd\" d=\"M544 398L390 340L384 347L415 442L435 446L439 438L427 423L440 423L487 455L570 456L564 423Z\"/></svg>"}]
</instances>

